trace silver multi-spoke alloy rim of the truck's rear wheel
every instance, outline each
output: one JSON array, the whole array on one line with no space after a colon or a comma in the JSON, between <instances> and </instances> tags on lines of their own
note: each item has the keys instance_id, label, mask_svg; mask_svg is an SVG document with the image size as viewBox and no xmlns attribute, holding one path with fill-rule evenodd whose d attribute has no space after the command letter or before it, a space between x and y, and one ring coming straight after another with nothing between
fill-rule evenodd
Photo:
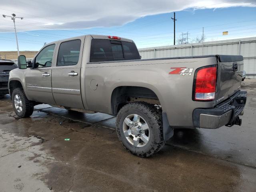
<instances>
[{"instance_id":1,"label":"silver multi-spoke alloy rim of the truck's rear wheel","mask_svg":"<svg viewBox=\"0 0 256 192\"><path fill-rule=\"evenodd\" d=\"M137 114L126 116L123 122L124 136L135 147L145 146L150 138L147 122Z\"/></svg>"}]
</instances>

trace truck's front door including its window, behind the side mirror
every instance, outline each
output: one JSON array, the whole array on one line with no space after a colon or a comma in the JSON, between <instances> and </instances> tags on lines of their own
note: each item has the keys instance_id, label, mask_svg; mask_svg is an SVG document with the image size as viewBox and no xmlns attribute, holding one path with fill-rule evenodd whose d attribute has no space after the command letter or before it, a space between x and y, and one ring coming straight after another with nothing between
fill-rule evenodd
<instances>
[{"instance_id":1,"label":"truck's front door including its window, behind the side mirror","mask_svg":"<svg viewBox=\"0 0 256 192\"><path fill-rule=\"evenodd\" d=\"M55 104L52 95L52 61L55 44L43 48L35 58L33 69L26 69L26 89L30 100Z\"/></svg>"}]
</instances>

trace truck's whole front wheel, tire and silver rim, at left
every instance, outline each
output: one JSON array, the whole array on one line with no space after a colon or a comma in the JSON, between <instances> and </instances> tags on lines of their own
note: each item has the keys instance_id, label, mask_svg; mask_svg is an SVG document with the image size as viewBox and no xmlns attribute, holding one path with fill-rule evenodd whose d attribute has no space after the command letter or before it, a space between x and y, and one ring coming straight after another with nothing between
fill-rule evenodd
<instances>
[{"instance_id":1,"label":"truck's whole front wheel, tire and silver rim, at left","mask_svg":"<svg viewBox=\"0 0 256 192\"><path fill-rule=\"evenodd\" d=\"M34 104L28 100L22 88L15 88L12 92L12 106L18 117L24 118L32 115Z\"/></svg>"}]
</instances>

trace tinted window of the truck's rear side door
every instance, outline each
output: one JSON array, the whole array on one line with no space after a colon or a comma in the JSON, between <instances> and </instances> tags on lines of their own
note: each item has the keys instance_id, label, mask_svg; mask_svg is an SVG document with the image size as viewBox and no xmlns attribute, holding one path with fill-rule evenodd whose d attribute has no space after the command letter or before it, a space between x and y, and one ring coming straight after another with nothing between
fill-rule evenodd
<instances>
[{"instance_id":1,"label":"tinted window of the truck's rear side door","mask_svg":"<svg viewBox=\"0 0 256 192\"><path fill-rule=\"evenodd\" d=\"M81 41L62 42L58 52L57 66L76 65L79 59Z\"/></svg>"}]
</instances>

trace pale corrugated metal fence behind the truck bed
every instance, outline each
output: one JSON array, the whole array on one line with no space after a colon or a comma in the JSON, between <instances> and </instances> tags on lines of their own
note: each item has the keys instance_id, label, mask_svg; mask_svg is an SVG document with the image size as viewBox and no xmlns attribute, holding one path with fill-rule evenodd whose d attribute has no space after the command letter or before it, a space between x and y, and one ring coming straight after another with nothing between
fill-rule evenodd
<instances>
[{"instance_id":1,"label":"pale corrugated metal fence behind the truck bed","mask_svg":"<svg viewBox=\"0 0 256 192\"><path fill-rule=\"evenodd\" d=\"M200 55L242 55L248 78L256 78L256 37L139 49L142 59Z\"/></svg>"}]
</instances>

